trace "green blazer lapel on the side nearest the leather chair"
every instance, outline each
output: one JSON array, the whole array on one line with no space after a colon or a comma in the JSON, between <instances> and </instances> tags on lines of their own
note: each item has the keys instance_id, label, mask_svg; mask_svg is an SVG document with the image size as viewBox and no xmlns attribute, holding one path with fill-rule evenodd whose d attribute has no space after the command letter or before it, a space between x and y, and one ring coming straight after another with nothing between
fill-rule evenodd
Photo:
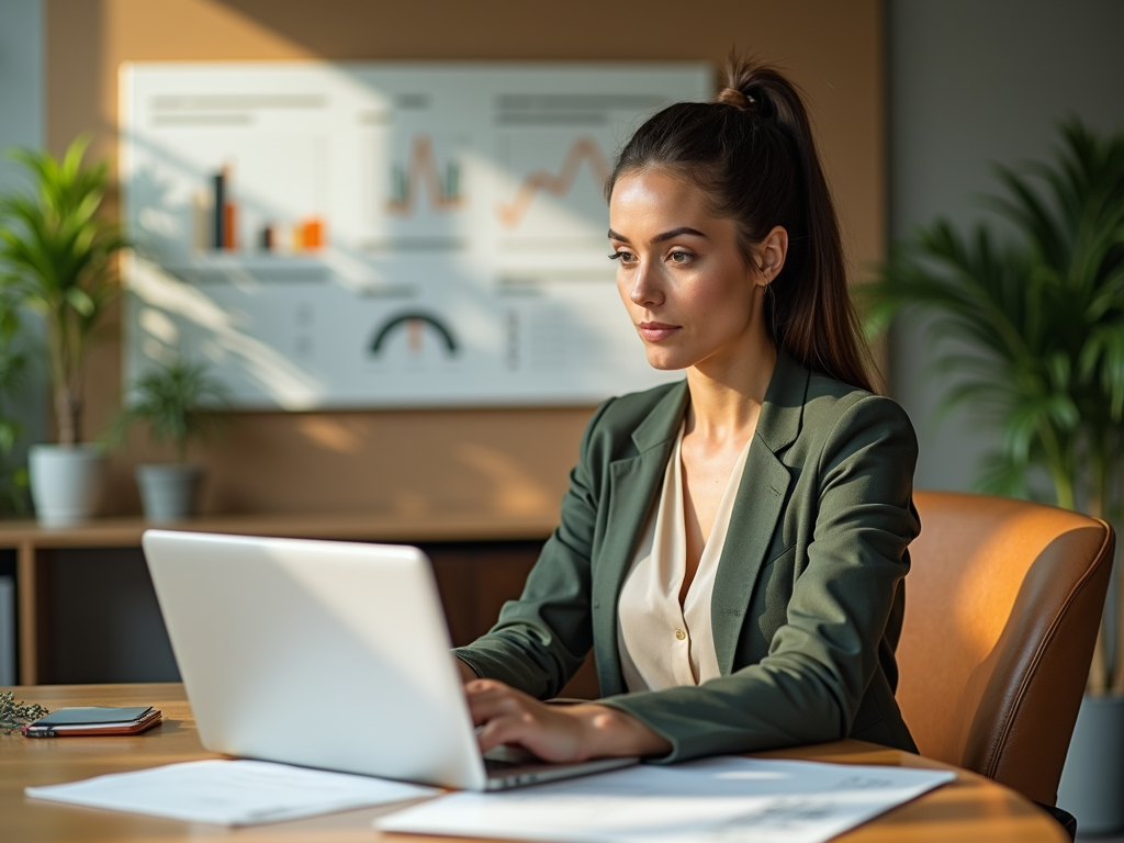
<instances>
[{"instance_id":1,"label":"green blazer lapel on the side nearest the leather chair","mask_svg":"<svg viewBox=\"0 0 1124 843\"><path fill-rule=\"evenodd\" d=\"M785 508L792 478L777 452L792 444L800 432L807 388L808 370L779 352L734 499L710 597L710 627L723 676L733 672L737 640L758 574Z\"/></svg>"}]
</instances>

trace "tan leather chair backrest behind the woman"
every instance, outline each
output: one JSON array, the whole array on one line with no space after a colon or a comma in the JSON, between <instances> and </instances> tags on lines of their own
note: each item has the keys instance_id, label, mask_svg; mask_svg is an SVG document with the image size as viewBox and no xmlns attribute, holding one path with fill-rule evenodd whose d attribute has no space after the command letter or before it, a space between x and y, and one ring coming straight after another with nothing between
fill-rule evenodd
<instances>
[{"instance_id":1,"label":"tan leather chair backrest behind the woman","mask_svg":"<svg viewBox=\"0 0 1124 843\"><path fill-rule=\"evenodd\" d=\"M1007 498L916 492L897 699L923 755L1053 805L1115 537Z\"/></svg>"}]
</instances>

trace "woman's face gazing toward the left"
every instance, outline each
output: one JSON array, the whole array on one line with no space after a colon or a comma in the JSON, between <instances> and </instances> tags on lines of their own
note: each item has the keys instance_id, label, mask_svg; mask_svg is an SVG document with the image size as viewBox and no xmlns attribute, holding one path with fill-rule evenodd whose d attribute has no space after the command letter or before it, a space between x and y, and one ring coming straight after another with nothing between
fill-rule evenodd
<instances>
[{"instance_id":1,"label":"woman's face gazing toward the left","mask_svg":"<svg viewBox=\"0 0 1124 843\"><path fill-rule=\"evenodd\" d=\"M765 277L742 257L734 220L711 216L704 199L660 170L613 188L617 290L655 369L720 366L760 347Z\"/></svg>"}]
</instances>

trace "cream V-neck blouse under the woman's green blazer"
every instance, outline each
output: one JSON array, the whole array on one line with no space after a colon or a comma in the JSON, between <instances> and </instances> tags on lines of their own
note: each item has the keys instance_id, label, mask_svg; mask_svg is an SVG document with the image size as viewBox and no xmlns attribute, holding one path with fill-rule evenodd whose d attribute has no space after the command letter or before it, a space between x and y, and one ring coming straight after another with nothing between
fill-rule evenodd
<instances>
[{"instance_id":1,"label":"cream V-neck blouse under the woman's green blazer","mask_svg":"<svg viewBox=\"0 0 1124 843\"><path fill-rule=\"evenodd\" d=\"M710 593L750 443L734 463L698 571L680 606L687 569L682 441L680 426L663 474L660 502L641 535L617 601L617 649L629 691L699 685L720 676L710 627Z\"/></svg>"}]
</instances>

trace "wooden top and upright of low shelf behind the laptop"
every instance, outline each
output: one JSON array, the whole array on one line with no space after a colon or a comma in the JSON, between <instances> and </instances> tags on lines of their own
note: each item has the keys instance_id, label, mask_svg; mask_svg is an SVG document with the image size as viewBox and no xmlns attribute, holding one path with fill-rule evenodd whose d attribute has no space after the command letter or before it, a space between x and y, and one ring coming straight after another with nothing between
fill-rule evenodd
<instances>
[{"instance_id":1,"label":"wooden top and upright of low shelf behind the laptop","mask_svg":"<svg viewBox=\"0 0 1124 843\"><path fill-rule=\"evenodd\" d=\"M556 515L513 516L495 513L443 513L419 515L344 516L225 516L196 518L166 525L201 533L334 538L361 542L473 542L545 540L556 525ZM75 527L40 527L35 522L0 523L0 549L17 553L16 588L19 617L19 682L44 679L42 640L44 552L57 549L139 547L140 535L153 526L143 518L103 518Z\"/></svg>"}]
</instances>

